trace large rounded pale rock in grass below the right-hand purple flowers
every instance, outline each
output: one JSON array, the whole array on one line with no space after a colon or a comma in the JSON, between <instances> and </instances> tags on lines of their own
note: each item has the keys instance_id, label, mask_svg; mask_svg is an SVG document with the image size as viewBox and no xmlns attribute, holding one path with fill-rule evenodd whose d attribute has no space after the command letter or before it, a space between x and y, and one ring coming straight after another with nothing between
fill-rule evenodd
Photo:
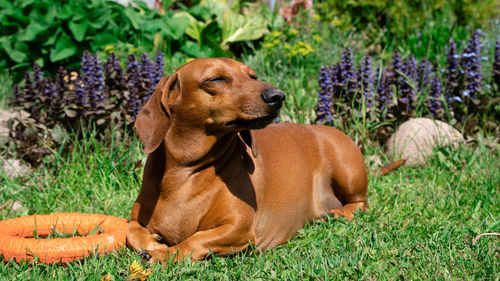
<instances>
[{"instance_id":1,"label":"large rounded pale rock in grass below the right-hand purple flowers","mask_svg":"<svg viewBox=\"0 0 500 281\"><path fill-rule=\"evenodd\" d=\"M429 118L410 119L401 124L387 142L391 160L406 159L406 165L425 165L436 147L458 147L462 134L450 125Z\"/></svg>"}]
</instances>

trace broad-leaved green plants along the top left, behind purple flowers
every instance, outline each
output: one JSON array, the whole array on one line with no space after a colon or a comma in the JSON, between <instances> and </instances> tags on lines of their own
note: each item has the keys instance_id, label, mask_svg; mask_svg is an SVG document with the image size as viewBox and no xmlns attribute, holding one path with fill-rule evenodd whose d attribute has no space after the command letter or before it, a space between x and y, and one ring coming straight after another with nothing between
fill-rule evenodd
<instances>
[{"instance_id":1,"label":"broad-leaved green plants along the top left, behind purple flowers","mask_svg":"<svg viewBox=\"0 0 500 281\"><path fill-rule=\"evenodd\" d=\"M84 51L233 56L230 44L262 37L267 21L261 9L215 0L164 14L142 1L0 0L0 30L0 69L15 75L36 62L55 74L79 67Z\"/></svg>"}]
</instances>

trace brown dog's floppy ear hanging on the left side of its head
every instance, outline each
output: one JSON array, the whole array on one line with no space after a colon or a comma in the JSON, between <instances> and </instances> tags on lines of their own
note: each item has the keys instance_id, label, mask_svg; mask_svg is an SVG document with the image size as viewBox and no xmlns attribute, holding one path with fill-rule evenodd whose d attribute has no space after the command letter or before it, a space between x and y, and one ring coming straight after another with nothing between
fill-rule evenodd
<instances>
[{"instance_id":1,"label":"brown dog's floppy ear hanging on the left side of its head","mask_svg":"<svg viewBox=\"0 0 500 281\"><path fill-rule=\"evenodd\" d=\"M176 80L176 73L163 77L153 95L137 114L134 128L144 145L144 153L155 151L167 134L167 122L171 113L168 105L163 104L162 100L168 101Z\"/></svg>"}]
</instances>

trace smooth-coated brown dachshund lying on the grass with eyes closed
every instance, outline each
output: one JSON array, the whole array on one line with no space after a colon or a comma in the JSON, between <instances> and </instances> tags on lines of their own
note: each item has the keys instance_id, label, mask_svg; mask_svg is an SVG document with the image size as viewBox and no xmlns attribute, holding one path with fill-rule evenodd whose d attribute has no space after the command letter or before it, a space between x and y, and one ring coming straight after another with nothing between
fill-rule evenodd
<instances>
[{"instance_id":1,"label":"smooth-coated brown dachshund lying on the grass with eyes closed","mask_svg":"<svg viewBox=\"0 0 500 281\"><path fill-rule=\"evenodd\" d=\"M345 134L267 126L284 98L226 58L164 77L135 123L150 155L127 243L150 262L199 260L271 248L306 222L366 209L363 157Z\"/></svg>"}]
</instances>

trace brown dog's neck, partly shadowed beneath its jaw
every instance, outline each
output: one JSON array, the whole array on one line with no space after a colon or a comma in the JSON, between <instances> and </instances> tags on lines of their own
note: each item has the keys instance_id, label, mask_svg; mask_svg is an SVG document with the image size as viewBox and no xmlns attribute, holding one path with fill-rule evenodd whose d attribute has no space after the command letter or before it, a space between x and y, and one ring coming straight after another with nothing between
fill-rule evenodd
<instances>
[{"instance_id":1,"label":"brown dog's neck, partly shadowed beneath its jaw","mask_svg":"<svg viewBox=\"0 0 500 281\"><path fill-rule=\"evenodd\" d=\"M167 131L164 145L167 170L172 167L197 170L210 164L222 164L225 155L238 149L238 137L236 132L206 135L194 128L172 126Z\"/></svg>"}]
</instances>

